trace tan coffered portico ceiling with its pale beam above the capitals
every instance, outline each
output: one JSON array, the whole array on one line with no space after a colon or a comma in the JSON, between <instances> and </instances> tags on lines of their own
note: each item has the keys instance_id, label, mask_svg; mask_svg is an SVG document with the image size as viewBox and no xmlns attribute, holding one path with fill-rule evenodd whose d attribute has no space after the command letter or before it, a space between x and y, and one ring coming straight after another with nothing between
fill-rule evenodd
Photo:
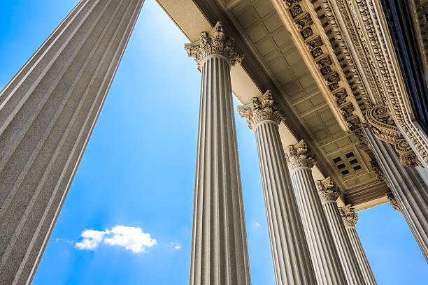
<instances>
[{"instance_id":1,"label":"tan coffered portico ceiling with its pale beam above the capitals","mask_svg":"<svg viewBox=\"0 0 428 285\"><path fill-rule=\"evenodd\" d=\"M341 202L357 210L387 202L387 186L371 168L365 146L338 122L270 0L157 1L190 41L222 20L245 54L231 71L234 94L248 103L272 90L287 115L280 126L283 146L308 142L318 156L315 180L333 177L344 192Z\"/></svg>"}]
</instances>

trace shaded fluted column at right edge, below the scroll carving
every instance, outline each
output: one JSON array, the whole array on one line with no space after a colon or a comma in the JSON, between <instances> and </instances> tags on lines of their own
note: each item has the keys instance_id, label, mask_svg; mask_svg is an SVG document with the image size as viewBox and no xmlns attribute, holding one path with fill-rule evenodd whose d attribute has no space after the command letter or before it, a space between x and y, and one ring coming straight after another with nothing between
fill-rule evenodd
<instances>
[{"instance_id":1,"label":"shaded fluted column at right edge, below the scroll carving","mask_svg":"<svg viewBox=\"0 0 428 285\"><path fill-rule=\"evenodd\" d=\"M382 168L401 214L428 262L428 173L420 166L401 164L394 145L383 142L368 128L364 133Z\"/></svg>"}]
</instances>

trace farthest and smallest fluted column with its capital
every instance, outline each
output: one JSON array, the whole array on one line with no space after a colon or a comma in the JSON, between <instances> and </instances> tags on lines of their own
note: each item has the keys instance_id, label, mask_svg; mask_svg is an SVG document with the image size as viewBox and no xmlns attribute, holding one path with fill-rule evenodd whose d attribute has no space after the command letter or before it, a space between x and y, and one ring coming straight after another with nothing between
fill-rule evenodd
<instances>
[{"instance_id":1,"label":"farthest and smallest fluted column with its capital","mask_svg":"<svg viewBox=\"0 0 428 285\"><path fill-rule=\"evenodd\" d=\"M340 213L366 284L376 284L376 279L373 271L371 271L369 260L364 252L361 240L358 238L357 228L355 227L358 221L358 214L349 206L341 208Z\"/></svg>"}]
</instances>

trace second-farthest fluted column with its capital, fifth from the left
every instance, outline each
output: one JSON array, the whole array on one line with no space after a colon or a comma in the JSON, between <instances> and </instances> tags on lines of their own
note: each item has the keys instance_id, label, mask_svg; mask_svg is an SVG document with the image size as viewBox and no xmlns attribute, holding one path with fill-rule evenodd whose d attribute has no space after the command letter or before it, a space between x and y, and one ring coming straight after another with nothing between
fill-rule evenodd
<instances>
[{"instance_id":1,"label":"second-farthest fluted column with its capital, fifth from the left","mask_svg":"<svg viewBox=\"0 0 428 285\"><path fill-rule=\"evenodd\" d=\"M348 237L348 233L346 233L341 214L337 207L336 200L341 196L341 190L338 189L336 182L334 182L331 177L318 180L315 182L315 185L318 189L322 208L329 222L331 235L333 236L334 244L336 244L336 249L341 259L348 284L376 284L376 282L373 283L368 279L364 282L362 271L358 265L357 256L355 256L354 249L352 249L352 244Z\"/></svg>"}]
</instances>

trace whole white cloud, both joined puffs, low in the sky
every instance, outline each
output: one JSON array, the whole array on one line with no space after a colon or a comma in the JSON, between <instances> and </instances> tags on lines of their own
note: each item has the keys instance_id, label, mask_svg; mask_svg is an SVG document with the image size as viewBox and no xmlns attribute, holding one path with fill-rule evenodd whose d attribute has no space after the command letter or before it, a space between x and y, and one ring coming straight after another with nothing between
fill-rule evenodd
<instances>
[{"instance_id":1,"label":"whole white cloud, both joined puffs, low in the sky","mask_svg":"<svg viewBox=\"0 0 428 285\"><path fill-rule=\"evenodd\" d=\"M144 233L141 228L134 226L114 226L106 231L85 230L80 234L83 238L76 242L75 247L83 250L95 250L101 242L107 245L124 247L134 253L143 252L146 247L157 244L149 233Z\"/></svg>"}]
</instances>

